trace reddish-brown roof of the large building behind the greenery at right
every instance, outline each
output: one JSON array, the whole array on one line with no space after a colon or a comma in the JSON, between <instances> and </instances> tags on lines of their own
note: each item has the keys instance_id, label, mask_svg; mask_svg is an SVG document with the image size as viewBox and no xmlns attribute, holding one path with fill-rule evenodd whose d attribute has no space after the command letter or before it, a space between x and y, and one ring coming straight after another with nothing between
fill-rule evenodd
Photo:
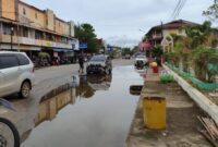
<instances>
[{"instance_id":1,"label":"reddish-brown roof of the large building behind the greenery at right","mask_svg":"<svg viewBox=\"0 0 218 147\"><path fill-rule=\"evenodd\" d=\"M172 28L181 28L184 26L194 26L194 25L199 25L197 23L193 23L193 22L189 22L189 21L184 21L184 20L175 20L166 24L160 24L157 26L152 27L147 34L150 34L154 29L172 29Z\"/></svg>"}]
</instances>

